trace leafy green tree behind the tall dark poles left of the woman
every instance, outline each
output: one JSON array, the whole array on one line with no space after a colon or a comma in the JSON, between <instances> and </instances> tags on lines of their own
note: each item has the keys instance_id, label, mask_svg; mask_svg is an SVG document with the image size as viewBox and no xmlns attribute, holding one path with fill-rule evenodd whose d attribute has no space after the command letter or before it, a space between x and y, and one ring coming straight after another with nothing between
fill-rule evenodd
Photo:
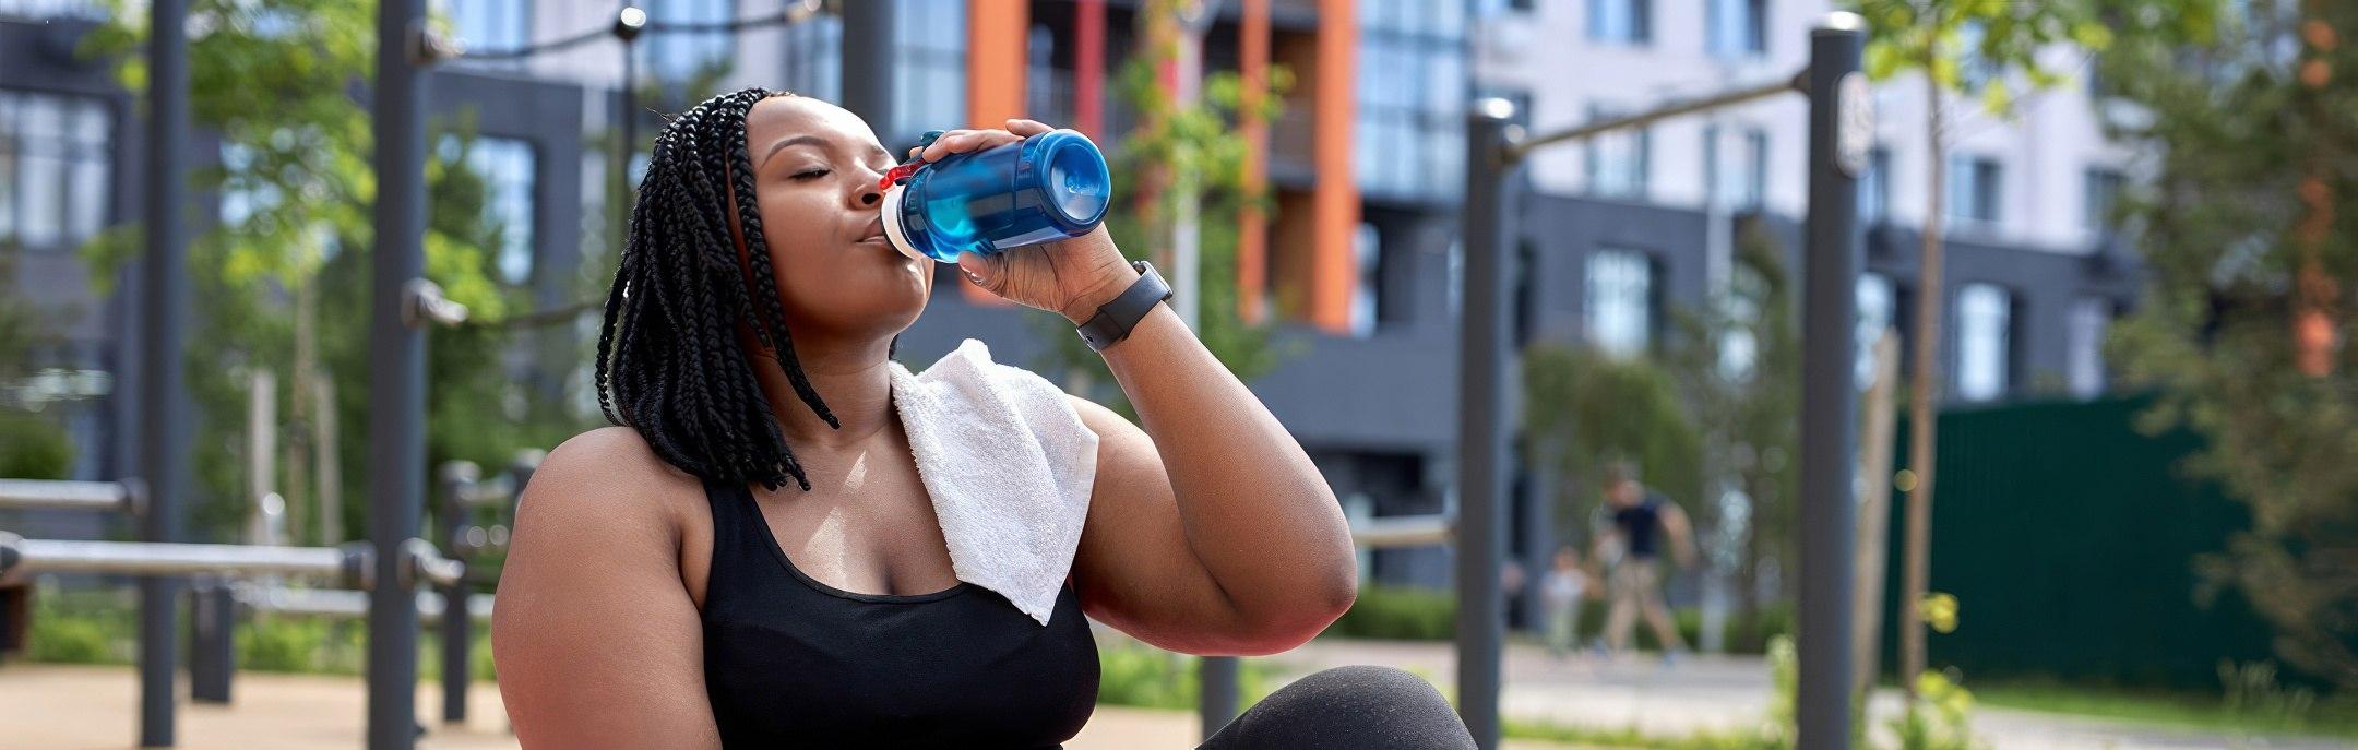
<instances>
[{"instance_id":1,"label":"leafy green tree behind the tall dark poles left of the woman","mask_svg":"<svg viewBox=\"0 0 2358 750\"><path fill-rule=\"evenodd\" d=\"M146 87L146 61L137 54L149 28L146 14L118 7L92 31L85 52L113 59L125 87ZM245 422L248 373L288 373L281 394L278 434L283 488L297 512L323 512L337 498L344 528L321 535L349 538L361 519L368 455L368 255L375 241L373 130L363 101L354 99L375 71L375 7L332 0L198 0L189 9L191 120L224 144L222 165L193 175L196 193L219 193L222 222L196 236L189 274L196 323L189 330L189 392L198 406L196 450L200 502L193 528L231 535L248 507L243 498L248 450L238 434ZM465 118L436 123L455 149L429 149L427 276L469 307L476 318L498 321L521 302L502 288L488 248L498 226L483 215L483 179L465 167L469 137ZM165 134L182 137L182 134ZM134 255L137 226L118 226L87 248L104 269ZM467 325L429 333L429 434L432 460L467 458L502 465L519 446L547 446L575 425L561 415L512 408L519 384L500 366L514 344L500 325ZM323 382L332 403L318 408ZM538 422L535 422L538 417ZM323 425L328 446L311 436ZM342 472L328 486L321 472ZM377 467L384 469L384 467ZM424 472L427 467L391 467ZM295 528L309 531L311 519ZM307 533L297 533L307 538Z\"/></svg>"}]
</instances>

